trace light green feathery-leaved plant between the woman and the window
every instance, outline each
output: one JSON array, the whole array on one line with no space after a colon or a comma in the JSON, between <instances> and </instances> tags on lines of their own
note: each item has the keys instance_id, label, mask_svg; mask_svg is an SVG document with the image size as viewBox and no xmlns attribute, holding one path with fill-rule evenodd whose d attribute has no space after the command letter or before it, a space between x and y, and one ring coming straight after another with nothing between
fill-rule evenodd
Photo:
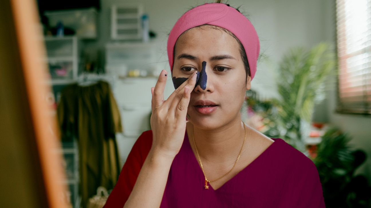
<instances>
[{"instance_id":1,"label":"light green feathery-leaved plant between the woman and the window","mask_svg":"<svg viewBox=\"0 0 371 208\"><path fill-rule=\"evenodd\" d=\"M283 138L298 150L305 151L302 135L311 121L314 105L325 97L324 81L335 66L335 53L328 43L319 43L311 50L303 47L289 50L278 68L280 98L270 101L270 107L277 115L267 115L275 125L263 133ZM256 102L254 98L247 99L250 107L253 102Z\"/></svg>"}]
</instances>

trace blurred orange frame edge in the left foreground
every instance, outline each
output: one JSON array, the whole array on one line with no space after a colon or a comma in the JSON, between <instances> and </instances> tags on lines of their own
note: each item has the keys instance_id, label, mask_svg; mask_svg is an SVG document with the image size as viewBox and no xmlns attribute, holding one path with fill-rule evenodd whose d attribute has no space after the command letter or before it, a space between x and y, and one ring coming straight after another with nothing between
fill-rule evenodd
<instances>
[{"instance_id":1,"label":"blurred orange frame edge in the left foreground","mask_svg":"<svg viewBox=\"0 0 371 208\"><path fill-rule=\"evenodd\" d=\"M61 165L62 157L57 153L60 144L56 119L50 115L52 109L43 96L50 92L50 87L46 84L48 70L43 61L46 52L36 2L10 0L10 5L45 187L46 204L53 208L70 207L61 197L61 194L66 191L66 186L62 183L65 180Z\"/></svg>"}]
</instances>

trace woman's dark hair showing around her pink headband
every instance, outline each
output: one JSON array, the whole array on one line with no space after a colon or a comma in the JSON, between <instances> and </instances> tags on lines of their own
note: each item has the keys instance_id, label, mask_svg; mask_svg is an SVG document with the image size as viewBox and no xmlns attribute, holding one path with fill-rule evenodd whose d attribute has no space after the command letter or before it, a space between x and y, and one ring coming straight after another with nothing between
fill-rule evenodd
<instances>
[{"instance_id":1,"label":"woman's dark hair showing around her pink headband","mask_svg":"<svg viewBox=\"0 0 371 208\"><path fill-rule=\"evenodd\" d=\"M221 0L216 0L215 3L221 3ZM226 5L229 6L229 4L226 4ZM194 8L194 7L193 7L193 8ZM193 8L191 8L191 9L193 9ZM232 7L232 8L234 8L234 7ZM239 8L240 8L240 7L237 7L237 8L234 8L234 9L236 9L237 11L240 12ZM241 12L240 12L240 13L241 13ZM246 18L247 18L247 17L246 17ZM193 28L200 28L201 26L205 26L205 25L207 25L207 26L209 26L209 27L211 27L211 28L213 28L213 29L216 29L216 30L222 30L222 31L228 33L228 34L229 34L230 36L232 36L234 39L236 39L237 43L238 43L239 46L240 46L239 51L240 51L240 54L241 54L241 58L242 58L243 64L244 64L244 66L245 66L245 72L246 72L246 83L247 83L247 76L251 77L251 73L250 73L249 61L247 60L246 51L245 51L245 48L243 47L241 41L240 41L240 40L239 40L239 39L238 39L238 38L237 38L237 37L236 37L236 36L235 36L231 31L229 31L229 30L227 30L227 29L225 29L225 28L223 28L223 27L218 27L218 26L214 26L214 25L203 24L203 25L200 25L200 26L196 26L196 27L189 28L188 30L191 30L191 29L193 29ZM180 34L180 36L183 35L184 33L186 33L188 30L184 31L182 34ZM179 37L180 37L180 36L179 36ZM177 44L177 43L176 43L176 41L175 41L174 49L173 49L173 66L172 66L172 68L171 68L171 71L173 71L173 68L174 68L174 57L175 57L175 46L176 46L176 44Z\"/></svg>"}]
</instances>

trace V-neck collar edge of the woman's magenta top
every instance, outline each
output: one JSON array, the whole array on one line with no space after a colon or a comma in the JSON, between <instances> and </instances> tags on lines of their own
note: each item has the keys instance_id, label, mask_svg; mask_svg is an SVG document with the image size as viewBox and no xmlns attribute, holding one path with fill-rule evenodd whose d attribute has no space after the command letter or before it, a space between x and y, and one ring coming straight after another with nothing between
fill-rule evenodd
<instances>
[{"instance_id":1,"label":"V-neck collar edge of the woman's magenta top","mask_svg":"<svg viewBox=\"0 0 371 208\"><path fill-rule=\"evenodd\" d=\"M247 165L246 167L244 167L240 172L238 172L236 175L234 175L232 178L230 178L228 181L226 181L223 185L221 185L221 187L217 188L217 189L214 189L211 184L209 183L209 190L207 191L210 191L210 189L212 191L219 191L219 189L223 189L226 185L228 185L231 181L235 180L235 178L238 176L238 175L241 175L243 172L247 171L249 168L251 168L252 166L254 166L255 163L257 163L257 161L261 160L262 158L262 155L265 155L267 154L267 152L269 151L272 151L273 148L275 148L275 146L279 143L279 142L282 142L284 140L282 140L281 138L271 138L272 140L274 140L274 142L272 144L269 145L269 147L267 147L257 158L255 158L255 160L253 160L252 162L250 162L249 165ZM190 154L192 155L191 158L194 158L193 160L193 164L197 164L197 170L198 170L198 174L200 175L200 177L202 177L202 181L204 181L205 179L205 176L204 176L204 173L202 172L201 170L201 167L198 163L198 160L196 158L196 156L194 155L193 153L193 150L192 150L192 147L191 147L191 144L190 144L190 141L189 141L189 138L188 138L188 134L187 134L187 130L185 130L185 136L184 136L184 141L186 144L185 144L185 147L188 148L189 151L187 152L190 152ZM202 185L202 184L200 184Z\"/></svg>"}]
</instances>

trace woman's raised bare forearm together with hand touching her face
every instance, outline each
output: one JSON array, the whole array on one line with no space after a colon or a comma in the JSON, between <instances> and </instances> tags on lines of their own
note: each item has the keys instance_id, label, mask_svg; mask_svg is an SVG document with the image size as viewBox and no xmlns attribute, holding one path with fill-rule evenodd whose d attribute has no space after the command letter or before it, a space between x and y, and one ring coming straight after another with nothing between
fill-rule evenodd
<instances>
[{"instance_id":1,"label":"woman's raised bare forearm together with hand touching her face","mask_svg":"<svg viewBox=\"0 0 371 208\"><path fill-rule=\"evenodd\" d=\"M152 147L139 172L125 208L160 207L171 163L184 141L186 114L196 73L180 85L167 100L167 73L162 70L152 93Z\"/></svg>"}]
</instances>

